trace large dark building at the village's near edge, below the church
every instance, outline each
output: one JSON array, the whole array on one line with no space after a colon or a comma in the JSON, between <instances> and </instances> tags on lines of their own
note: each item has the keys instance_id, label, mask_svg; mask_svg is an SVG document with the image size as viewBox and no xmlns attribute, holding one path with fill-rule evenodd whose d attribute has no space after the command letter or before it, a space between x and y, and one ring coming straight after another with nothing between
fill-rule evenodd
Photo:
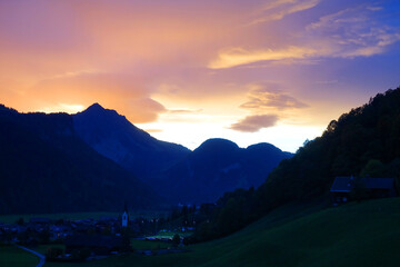
<instances>
[{"instance_id":1,"label":"large dark building at the village's near edge, below the church","mask_svg":"<svg viewBox=\"0 0 400 267\"><path fill-rule=\"evenodd\" d=\"M66 239L66 254L89 249L96 255L109 255L123 248L122 238L102 235L73 235Z\"/></svg>"}]
</instances>

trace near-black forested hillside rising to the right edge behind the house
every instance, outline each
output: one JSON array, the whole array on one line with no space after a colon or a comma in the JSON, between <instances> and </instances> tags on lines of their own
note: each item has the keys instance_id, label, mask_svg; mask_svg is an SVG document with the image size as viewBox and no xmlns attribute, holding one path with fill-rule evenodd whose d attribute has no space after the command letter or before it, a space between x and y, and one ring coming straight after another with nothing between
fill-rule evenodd
<instances>
[{"instance_id":1,"label":"near-black forested hillside rising to the right edge behind the house","mask_svg":"<svg viewBox=\"0 0 400 267\"><path fill-rule=\"evenodd\" d=\"M260 195L273 196L272 207L310 199L327 194L336 176L350 175L400 178L400 88L332 120L321 137L270 174ZM277 188L284 194L273 194Z\"/></svg>"}]
</instances>

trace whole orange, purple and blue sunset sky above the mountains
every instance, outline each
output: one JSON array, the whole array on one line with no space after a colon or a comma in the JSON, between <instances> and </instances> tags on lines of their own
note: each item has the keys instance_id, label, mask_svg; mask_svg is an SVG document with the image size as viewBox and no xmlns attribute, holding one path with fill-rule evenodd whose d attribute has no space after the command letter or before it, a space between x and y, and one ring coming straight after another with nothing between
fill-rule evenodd
<instances>
[{"instance_id":1,"label":"whole orange, purple and blue sunset sky above the mountains","mask_svg":"<svg viewBox=\"0 0 400 267\"><path fill-rule=\"evenodd\" d=\"M0 0L0 102L294 152L400 86L400 1Z\"/></svg>"}]
</instances>

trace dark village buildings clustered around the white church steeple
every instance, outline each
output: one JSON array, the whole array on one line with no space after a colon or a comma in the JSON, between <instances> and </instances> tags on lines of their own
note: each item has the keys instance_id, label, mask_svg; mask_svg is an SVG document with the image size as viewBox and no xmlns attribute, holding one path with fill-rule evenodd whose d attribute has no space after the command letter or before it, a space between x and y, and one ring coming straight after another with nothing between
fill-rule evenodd
<instances>
[{"instance_id":1,"label":"dark village buildings clustered around the white church steeple","mask_svg":"<svg viewBox=\"0 0 400 267\"><path fill-rule=\"evenodd\" d=\"M104 255L119 251L126 246L122 235L141 236L157 230L158 219L129 219L122 216L100 219L52 220L49 218L19 219L14 224L0 222L0 244L36 246L40 244L63 244L66 254L89 249L91 254Z\"/></svg>"}]
</instances>

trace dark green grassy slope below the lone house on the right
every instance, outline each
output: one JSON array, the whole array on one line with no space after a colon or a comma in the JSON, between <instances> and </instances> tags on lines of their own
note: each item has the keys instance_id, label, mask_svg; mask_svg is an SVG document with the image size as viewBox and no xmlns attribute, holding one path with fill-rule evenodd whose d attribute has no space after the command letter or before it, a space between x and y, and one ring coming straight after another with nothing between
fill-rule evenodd
<instances>
[{"instance_id":1,"label":"dark green grassy slope below the lone house on the right","mask_svg":"<svg viewBox=\"0 0 400 267\"><path fill-rule=\"evenodd\" d=\"M284 212L288 207L230 237L191 246L189 253L112 257L82 266L399 266L400 198L349 204L292 220L282 219Z\"/></svg>"}]
</instances>

